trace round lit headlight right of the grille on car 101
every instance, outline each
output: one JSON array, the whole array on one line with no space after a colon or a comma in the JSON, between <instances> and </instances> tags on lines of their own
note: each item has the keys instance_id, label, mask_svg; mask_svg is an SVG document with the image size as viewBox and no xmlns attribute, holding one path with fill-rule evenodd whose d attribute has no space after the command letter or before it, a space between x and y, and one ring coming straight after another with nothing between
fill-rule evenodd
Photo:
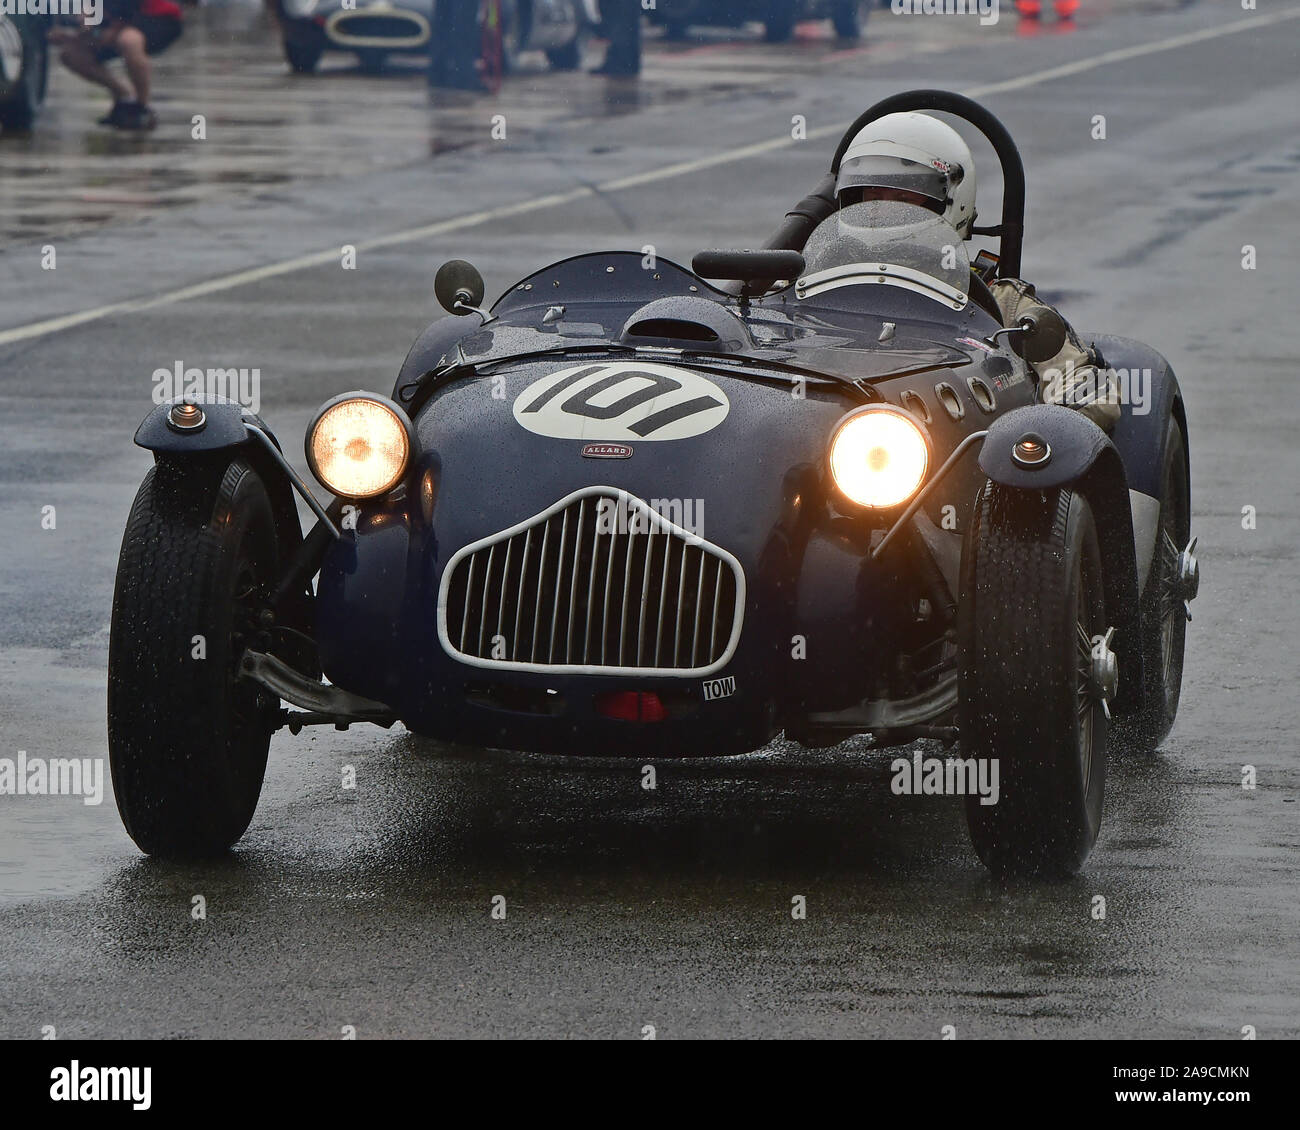
<instances>
[{"instance_id":1,"label":"round lit headlight right of the grille on car 101","mask_svg":"<svg viewBox=\"0 0 1300 1130\"><path fill-rule=\"evenodd\" d=\"M926 481L928 464L926 433L892 404L852 412L831 438L831 477L858 506L883 510L906 502Z\"/></svg>"}]
</instances>

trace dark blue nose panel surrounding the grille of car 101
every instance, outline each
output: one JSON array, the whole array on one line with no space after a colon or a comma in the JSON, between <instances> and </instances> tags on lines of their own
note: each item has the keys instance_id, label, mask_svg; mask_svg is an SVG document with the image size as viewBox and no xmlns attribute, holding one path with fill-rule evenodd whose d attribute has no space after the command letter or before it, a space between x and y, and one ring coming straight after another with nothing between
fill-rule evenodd
<instances>
[{"instance_id":1,"label":"dark blue nose panel surrounding the grille of car 101","mask_svg":"<svg viewBox=\"0 0 1300 1130\"><path fill-rule=\"evenodd\" d=\"M572 746L573 727L581 726L625 744L646 727L601 718L593 702L610 690L638 689L659 690L668 702L668 720L651 744L667 731L680 731L673 740L701 752L762 744L777 698L774 657L789 650L793 554L816 489L809 484L842 402L823 397L792 408L785 389L711 374L731 403L716 428L627 445L630 458L584 458L589 441L538 436L516 423L515 401L554 368L523 367L500 382L459 381L421 414L424 454L406 499L364 506L356 529L326 555L317 628L326 674L389 702L417 728L465 741L560 749ZM734 680L732 693L705 703L703 677L500 671L448 655L437 597L456 551L593 485L653 502L736 557L746 589L744 629L725 668L714 672ZM376 663L376 654L385 661ZM514 688L515 705L526 709L485 706L493 687ZM537 697L546 690L556 692L549 696L554 701ZM506 693L497 698L512 701ZM563 713L540 713L551 707Z\"/></svg>"}]
</instances>

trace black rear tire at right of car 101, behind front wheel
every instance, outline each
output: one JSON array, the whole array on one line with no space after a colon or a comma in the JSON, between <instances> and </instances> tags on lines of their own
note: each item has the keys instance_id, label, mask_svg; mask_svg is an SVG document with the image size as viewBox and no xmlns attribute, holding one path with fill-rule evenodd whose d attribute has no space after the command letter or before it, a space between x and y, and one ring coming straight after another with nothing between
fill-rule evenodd
<instances>
[{"instance_id":1,"label":"black rear tire at right of car 101, behind front wheel","mask_svg":"<svg viewBox=\"0 0 1300 1130\"><path fill-rule=\"evenodd\" d=\"M1115 744L1131 753L1150 753L1169 737L1183 687L1187 614L1176 581L1178 558L1191 537L1192 501L1183 429L1173 416L1166 429L1160 529L1141 596L1143 707L1115 719Z\"/></svg>"}]
</instances>

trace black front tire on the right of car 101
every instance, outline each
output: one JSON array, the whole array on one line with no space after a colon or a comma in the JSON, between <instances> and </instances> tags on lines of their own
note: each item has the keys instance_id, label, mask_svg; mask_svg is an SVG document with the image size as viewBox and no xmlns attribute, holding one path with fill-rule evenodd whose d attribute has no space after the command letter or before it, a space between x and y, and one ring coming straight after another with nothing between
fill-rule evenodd
<instances>
[{"instance_id":1,"label":"black front tire on the right of car 101","mask_svg":"<svg viewBox=\"0 0 1300 1130\"><path fill-rule=\"evenodd\" d=\"M1067 490L985 484L963 559L959 722L966 757L998 761L997 804L966 797L998 875L1074 875L1101 827L1106 718L1084 693L1106 629L1092 510Z\"/></svg>"}]
</instances>

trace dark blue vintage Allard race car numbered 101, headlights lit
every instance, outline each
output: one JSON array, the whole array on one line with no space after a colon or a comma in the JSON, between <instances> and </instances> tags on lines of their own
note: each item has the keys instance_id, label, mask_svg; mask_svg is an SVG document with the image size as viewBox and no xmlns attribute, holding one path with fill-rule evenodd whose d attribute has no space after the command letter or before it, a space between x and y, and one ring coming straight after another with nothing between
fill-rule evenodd
<instances>
[{"instance_id":1,"label":"dark blue vintage Allard race car numbered 101, headlights lit","mask_svg":"<svg viewBox=\"0 0 1300 1130\"><path fill-rule=\"evenodd\" d=\"M992 142L984 234L1017 274L1023 172L992 114L914 91L846 138L924 108ZM445 264L456 316L391 395L344 393L308 429L329 502L237 403L159 404L109 650L136 844L233 844L281 727L638 758L784 729L959 742L998 766L997 804L967 796L980 858L1076 871L1110 737L1153 748L1178 709L1197 588L1182 394L1149 346L1088 335L1147 373L1141 406L1108 436L1044 403L1030 361L1061 347L1060 317L1002 326L952 229L807 270L845 144L764 250L694 270L580 255L490 311L478 273Z\"/></svg>"}]
</instances>

